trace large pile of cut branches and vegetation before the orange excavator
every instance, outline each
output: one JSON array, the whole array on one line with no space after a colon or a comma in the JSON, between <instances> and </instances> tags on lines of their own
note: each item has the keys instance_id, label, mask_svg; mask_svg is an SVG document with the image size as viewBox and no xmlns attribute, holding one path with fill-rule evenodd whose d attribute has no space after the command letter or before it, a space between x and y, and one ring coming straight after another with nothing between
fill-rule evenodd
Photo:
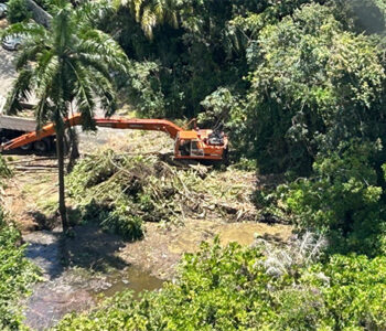
<instances>
[{"instance_id":1,"label":"large pile of cut branches and vegetation before the orange excavator","mask_svg":"<svg viewBox=\"0 0 386 331\"><path fill-rule=\"evenodd\" d=\"M176 168L157 156L99 151L78 162L67 177L67 188L82 220L97 222L127 239L142 236L142 222L256 217L249 201L253 172Z\"/></svg>"}]
</instances>

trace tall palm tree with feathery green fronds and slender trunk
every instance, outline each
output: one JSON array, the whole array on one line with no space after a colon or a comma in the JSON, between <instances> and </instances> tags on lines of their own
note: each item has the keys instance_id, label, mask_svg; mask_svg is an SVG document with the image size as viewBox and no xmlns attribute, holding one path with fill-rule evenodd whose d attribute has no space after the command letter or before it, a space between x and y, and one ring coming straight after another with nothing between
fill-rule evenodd
<instances>
[{"instance_id":1,"label":"tall palm tree with feathery green fronds and slender trunk","mask_svg":"<svg viewBox=\"0 0 386 331\"><path fill-rule=\"evenodd\" d=\"M58 210L63 231L68 228L64 188L64 119L74 106L83 116L83 128L94 129L94 111L100 107L106 116L116 109L111 72L126 71L127 56L93 22L108 13L106 4L87 2L74 9L58 0L49 29L34 22L11 25L7 35L21 35L24 45L17 60L18 78L9 96L10 111L21 110L20 102L31 95L37 99L39 127L55 124L58 164Z\"/></svg>"}]
</instances>

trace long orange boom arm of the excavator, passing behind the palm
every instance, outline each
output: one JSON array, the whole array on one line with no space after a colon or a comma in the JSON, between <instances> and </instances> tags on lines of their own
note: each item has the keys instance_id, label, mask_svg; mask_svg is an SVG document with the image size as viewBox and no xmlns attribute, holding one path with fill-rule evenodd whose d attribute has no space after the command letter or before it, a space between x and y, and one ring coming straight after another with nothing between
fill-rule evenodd
<instances>
[{"instance_id":1,"label":"long orange boom arm of the excavator, passing behind the palm","mask_svg":"<svg viewBox=\"0 0 386 331\"><path fill-rule=\"evenodd\" d=\"M94 118L97 127L107 127L115 129L133 129L133 130L153 130L153 131L163 131L167 132L171 138L175 139L179 131L182 131L182 128L172 124L169 120L164 119L126 119L126 118ZM75 114L72 117L65 119L65 125L67 127L74 127L82 125L82 116L81 114ZM29 132L22 135L15 139L7 141L1 145L1 150L11 150L14 148L19 148L21 146L34 142L36 140L41 140L45 137L50 137L55 135L55 126L54 124L49 124L43 126L41 130Z\"/></svg>"}]
</instances>

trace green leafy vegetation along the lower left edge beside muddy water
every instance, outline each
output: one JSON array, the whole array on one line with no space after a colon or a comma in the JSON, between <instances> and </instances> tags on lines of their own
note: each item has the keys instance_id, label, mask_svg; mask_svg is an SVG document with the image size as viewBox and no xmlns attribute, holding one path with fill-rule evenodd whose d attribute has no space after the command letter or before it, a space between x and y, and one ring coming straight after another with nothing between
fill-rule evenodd
<instances>
[{"instance_id":1,"label":"green leafy vegetation along the lower left edge beside muddy water","mask_svg":"<svg viewBox=\"0 0 386 331\"><path fill-rule=\"evenodd\" d=\"M29 292L29 285L37 280L37 269L24 257L20 233L1 207L1 180L10 174L0 156L0 329L22 330L18 300Z\"/></svg>"}]
</instances>

